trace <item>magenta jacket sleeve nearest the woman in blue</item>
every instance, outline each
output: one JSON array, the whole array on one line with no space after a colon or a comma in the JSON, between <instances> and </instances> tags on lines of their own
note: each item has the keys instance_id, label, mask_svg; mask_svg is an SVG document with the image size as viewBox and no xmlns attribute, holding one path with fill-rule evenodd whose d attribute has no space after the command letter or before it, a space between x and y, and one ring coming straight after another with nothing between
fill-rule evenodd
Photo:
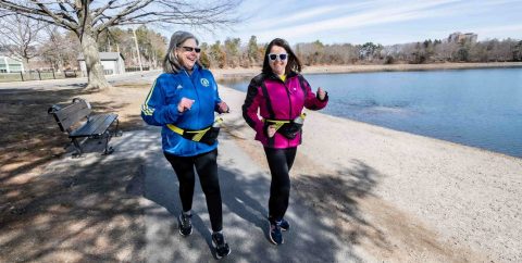
<instances>
[{"instance_id":1,"label":"magenta jacket sleeve nearest the woman in blue","mask_svg":"<svg viewBox=\"0 0 522 263\"><path fill-rule=\"evenodd\" d=\"M261 120L258 117L260 101L263 99L259 89L258 83L252 79L250 85L248 85L247 98L245 98L245 103L241 107L243 117L247 122L248 126L258 133L262 132L263 129L263 122L261 122Z\"/></svg>"}]
</instances>

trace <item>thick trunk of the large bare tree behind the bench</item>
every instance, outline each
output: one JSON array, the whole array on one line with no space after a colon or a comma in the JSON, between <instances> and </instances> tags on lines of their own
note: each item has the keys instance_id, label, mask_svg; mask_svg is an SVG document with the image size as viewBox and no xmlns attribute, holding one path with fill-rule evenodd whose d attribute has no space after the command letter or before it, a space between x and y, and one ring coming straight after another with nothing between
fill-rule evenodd
<instances>
[{"instance_id":1,"label":"thick trunk of the large bare tree behind the bench","mask_svg":"<svg viewBox=\"0 0 522 263\"><path fill-rule=\"evenodd\" d=\"M103 67L101 66L98 43L90 35L89 29L86 28L84 36L82 37L82 51L84 52L87 76L89 78L87 89L110 88L111 85L107 82L105 75L103 74Z\"/></svg>"}]
</instances>

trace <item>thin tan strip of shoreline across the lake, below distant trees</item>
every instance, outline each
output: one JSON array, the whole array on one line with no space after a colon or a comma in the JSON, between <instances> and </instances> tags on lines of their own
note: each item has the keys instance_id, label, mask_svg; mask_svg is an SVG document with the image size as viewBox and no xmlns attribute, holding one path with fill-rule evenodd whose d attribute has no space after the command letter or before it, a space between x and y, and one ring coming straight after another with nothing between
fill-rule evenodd
<instances>
[{"instance_id":1,"label":"thin tan strip of shoreline across the lake, below distant trees","mask_svg":"<svg viewBox=\"0 0 522 263\"><path fill-rule=\"evenodd\" d=\"M313 65L303 66L303 74L337 74L337 73L370 73L370 72L410 72L410 71L444 71L474 68L511 68L522 67L522 62L490 63L431 63L431 64L390 64L390 65ZM216 79L253 77L261 67L210 68Z\"/></svg>"}]
</instances>

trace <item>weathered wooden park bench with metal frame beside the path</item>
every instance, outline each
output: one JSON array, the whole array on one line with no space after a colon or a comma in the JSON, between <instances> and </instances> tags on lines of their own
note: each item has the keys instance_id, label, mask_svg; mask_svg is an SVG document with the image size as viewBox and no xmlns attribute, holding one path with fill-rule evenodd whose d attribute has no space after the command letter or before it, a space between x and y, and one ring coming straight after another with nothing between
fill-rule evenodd
<instances>
[{"instance_id":1,"label":"weathered wooden park bench with metal frame beside the path","mask_svg":"<svg viewBox=\"0 0 522 263\"><path fill-rule=\"evenodd\" d=\"M73 103L65 107L54 104L49 108L48 113L54 116L60 129L69 134L69 138L76 150L73 156L82 155L82 146L89 138L105 139L103 154L110 154L114 151L112 147L109 147L109 140L112 136L121 135L121 132L117 130L120 124L117 114L92 115L90 103L79 98L74 98ZM111 133L109 127L113 123L115 123L115 129Z\"/></svg>"}]
</instances>

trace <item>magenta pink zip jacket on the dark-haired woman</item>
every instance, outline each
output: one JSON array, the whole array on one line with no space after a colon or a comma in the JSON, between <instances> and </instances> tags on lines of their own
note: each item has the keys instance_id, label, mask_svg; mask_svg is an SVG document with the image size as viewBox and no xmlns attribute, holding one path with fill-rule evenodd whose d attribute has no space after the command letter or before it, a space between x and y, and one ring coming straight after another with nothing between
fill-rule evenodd
<instances>
[{"instance_id":1,"label":"magenta pink zip jacket on the dark-haired woman","mask_svg":"<svg viewBox=\"0 0 522 263\"><path fill-rule=\"evenodd\" d=\"M243 104L243 117L256 130L256 140L261 141L264 147L291 148L301 143L302 129L294 139L278 133L269 138L266 126L258 116L258 109L262 118L288 121L299 116L302 108L321 110L327 102L328 96L320 100L300 74L291 72L284 83L275 74L259 74L248 86L247 98ZM306 123L304 121L304 126Z\"/></svg>"}]
</instances>

